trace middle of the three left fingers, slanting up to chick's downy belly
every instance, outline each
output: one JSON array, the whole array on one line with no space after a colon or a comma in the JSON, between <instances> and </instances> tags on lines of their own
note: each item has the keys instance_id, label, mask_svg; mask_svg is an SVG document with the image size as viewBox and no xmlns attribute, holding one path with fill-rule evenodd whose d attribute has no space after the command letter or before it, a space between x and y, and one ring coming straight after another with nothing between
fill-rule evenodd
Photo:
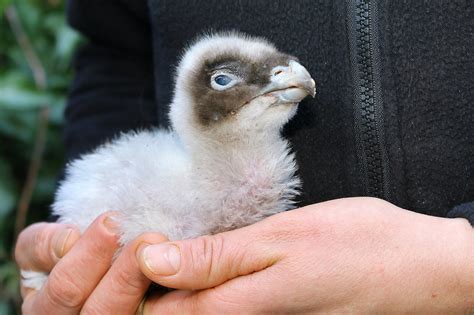
<instances>
[{"instance_id":1,"label":"middle of the three left fingers, slanting up to chick's downy belly","mask_svg":"<svg viewBox=\"0 0 474 315\"><path fill-rule=\"evenodd\" d=\"M117 227L110 213L97 218L56 264L34 299L24 302L25 311L31 314L77 314L111 266L118 249Z\"/></svg>"}]
</instances>

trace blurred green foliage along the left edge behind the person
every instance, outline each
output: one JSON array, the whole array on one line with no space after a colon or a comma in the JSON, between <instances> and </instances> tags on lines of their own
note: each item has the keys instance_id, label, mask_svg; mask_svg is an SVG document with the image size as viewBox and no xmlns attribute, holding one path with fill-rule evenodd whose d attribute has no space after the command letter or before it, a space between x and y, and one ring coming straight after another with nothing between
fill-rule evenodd
<instances>
[{"instance_id":1,"label":"blurred green foliage along the left edge behind the person","mask_svg":"<svg viewBox=\"0 0 474 315\"><path fill-rule=\"evenodd\" d=\"M31 51L19 44L7 12L16 12ZM48 107L46 142L27 224L47 217L63 166L62 116L70 61L80 39L65 24L64 1L0 0L0 13L0 314L15 314L21 303L12 259L15 220L39 132L39 113ZM44 86L35 81L28 53L36 54L44 69Z\"/></svg>"}]
</instances>

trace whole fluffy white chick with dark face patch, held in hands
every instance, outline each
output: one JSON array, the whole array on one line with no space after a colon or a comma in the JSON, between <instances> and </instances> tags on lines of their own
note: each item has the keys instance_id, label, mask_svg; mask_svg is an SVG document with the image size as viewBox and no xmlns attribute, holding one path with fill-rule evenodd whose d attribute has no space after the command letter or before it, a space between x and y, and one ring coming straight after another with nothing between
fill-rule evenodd
<instances>
[{"instance_id":1,"label":"whole fluffy white chick with dark face patch, held in hands","mask_svg":"<svg viewBox=\"0 0 474 315\"><path fill-rule=\"evenodd\" d=\"M294 206L300 180L280 131L315 82L297 58L239 33L199 38L176 70L171 130L123 134L67 166L53 204L84 231L120 212L122 244L252 224ZM24 284L40 287L38 273Z\"/></svg>"}]
</instances>

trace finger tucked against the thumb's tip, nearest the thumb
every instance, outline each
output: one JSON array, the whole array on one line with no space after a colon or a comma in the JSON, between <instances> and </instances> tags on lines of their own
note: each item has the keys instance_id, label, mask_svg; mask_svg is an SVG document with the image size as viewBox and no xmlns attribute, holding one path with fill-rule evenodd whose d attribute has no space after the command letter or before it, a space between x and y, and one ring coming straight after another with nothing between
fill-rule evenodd
<instances>
[{"instance_id":1,"label":"finger tucked against the thumb's tip, nearest the thumb","mask_svg":"<svg viewBox=\"0 0 474 315\"><path fill-rule=\"evenodd\" d=\"M147 233L126 245L82 308L84 314L133 314L150 286L135 258L142 243L167 241L161 234Z\"/></svg>"}]
</instances>

